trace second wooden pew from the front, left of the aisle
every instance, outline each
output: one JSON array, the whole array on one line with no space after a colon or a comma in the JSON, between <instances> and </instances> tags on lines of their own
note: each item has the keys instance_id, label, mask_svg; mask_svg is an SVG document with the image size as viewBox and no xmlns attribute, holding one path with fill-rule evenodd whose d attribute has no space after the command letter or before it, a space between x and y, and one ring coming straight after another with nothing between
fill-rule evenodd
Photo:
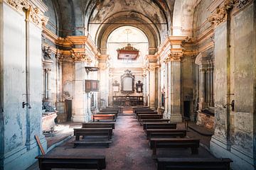
<instances>
[{"instance_id":1,"label":"second wooden pew from the front, left of the aisle","mask_svg":"<svg viewBox=\"0 0 256 170\"><path fill-rule=\"evenodd\" d=\"M112 128L74 128L74 147L79 144L105 144L109 147L112 133ZM80 140L80 136L106 136L107 140Z\"/></svg>"}]
</instances>

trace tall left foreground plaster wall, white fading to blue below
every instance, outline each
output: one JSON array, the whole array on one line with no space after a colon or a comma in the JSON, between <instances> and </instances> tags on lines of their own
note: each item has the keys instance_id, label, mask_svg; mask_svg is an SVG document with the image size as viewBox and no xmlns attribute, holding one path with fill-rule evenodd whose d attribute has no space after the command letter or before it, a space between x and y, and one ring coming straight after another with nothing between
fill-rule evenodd
<instances>
[{"instance_id":1,"label":"tall left foreground plaster wall, white fading to blue below","mask_svg":"<svg viewBox=\"0 0 256 170\"><path fill-rule=\"evenodd\" d=\"M41 138L46 149L41 131L41 79L38 79L41 77L41 29L30 22L26 29L25 13L18 13L4 2L0 6L3 14L0 36L4 42L1 42L0 56L1 118L4 120L1 169L26 169L36 162L34 157L39 154L34 135ZM22 102L30 103L31 109L22 108Z\"/></svg>"}]
</instances>

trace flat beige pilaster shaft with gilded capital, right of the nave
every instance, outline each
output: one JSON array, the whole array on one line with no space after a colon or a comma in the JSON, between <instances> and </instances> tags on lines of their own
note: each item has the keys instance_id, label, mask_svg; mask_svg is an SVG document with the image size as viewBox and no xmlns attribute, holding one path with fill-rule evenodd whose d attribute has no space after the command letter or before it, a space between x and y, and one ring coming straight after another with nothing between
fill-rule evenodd
<instances>
[{"instance_id":1,"label":"flat beige pilaster shaft with gilded capital, right of the nave","mask_svg":"<svg viewBox=\"0 0 256 170\"><path fill-rule=\"evenodd\" d=\"M181 56L171 57L171 122L182 122L181 115Z\"/></svg>"}]
</instances>

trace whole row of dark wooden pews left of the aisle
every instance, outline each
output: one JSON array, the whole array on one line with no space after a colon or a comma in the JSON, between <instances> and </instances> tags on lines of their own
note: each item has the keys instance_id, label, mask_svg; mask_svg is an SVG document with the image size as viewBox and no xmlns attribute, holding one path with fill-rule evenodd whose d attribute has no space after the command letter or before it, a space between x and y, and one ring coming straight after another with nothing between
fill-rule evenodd
<instances>
[{"instance_id":1,"label":"whole row of dark wooden pews left of the aisle","mask_svg":"<svg viewBox=\"0 0 256 170\"><path fill-rule=\"evenodd\" d=\"M74 128L74 147L78 145L109 145L112 143L114 135L114 122L119 113L119 109L106 108L99 113L92 115L91 123L82 123L82 128ZM97 122L95 122L97 120ZM100 120L105 120L100 122ZM106 122L106 120L110 120ZM97 136L97 138L95 138ZM98 138L102 137L102 138ZM39 168L44 169L106 169L105 155L97 156L53 156L44 154L36 157Z\"/></svg>"}]
</instances>

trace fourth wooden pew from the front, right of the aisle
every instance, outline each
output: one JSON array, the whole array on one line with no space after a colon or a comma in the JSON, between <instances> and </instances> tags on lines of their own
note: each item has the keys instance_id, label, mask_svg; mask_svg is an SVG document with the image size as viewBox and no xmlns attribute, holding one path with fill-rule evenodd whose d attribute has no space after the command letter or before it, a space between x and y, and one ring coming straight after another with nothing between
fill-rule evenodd
<instances>
[{"instance_id":1,"label":"fourth wooden pew from the front, right of the aisle","mask_svg":"<svg viewBox=\"0 0 256 170\"><path fill-rule=\"evenodd\" d=\"M143 123L143 130L148 129L176 129L177 123Z\"/></svg>"}]
</instances>

